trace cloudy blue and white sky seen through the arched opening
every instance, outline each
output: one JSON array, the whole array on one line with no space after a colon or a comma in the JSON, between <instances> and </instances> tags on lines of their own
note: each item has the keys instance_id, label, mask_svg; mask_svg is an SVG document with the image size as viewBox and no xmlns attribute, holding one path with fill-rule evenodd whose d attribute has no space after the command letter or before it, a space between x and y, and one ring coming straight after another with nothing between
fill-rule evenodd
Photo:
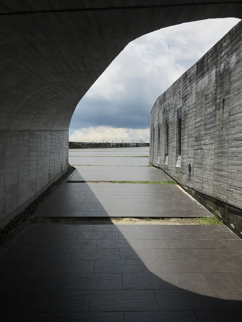
<instances>
[{"instance_id":1,"label":"cloudy blue and white sky seen through the arched opening","mask_svg":"<svg viewBox=\"0 0 242 322\"><path fill-rule=\"evenodd\" d=\"M129 43L77 104L70 138L149 137L156 99L238 22L190 22Z\"/></svg>"}]
</instances>

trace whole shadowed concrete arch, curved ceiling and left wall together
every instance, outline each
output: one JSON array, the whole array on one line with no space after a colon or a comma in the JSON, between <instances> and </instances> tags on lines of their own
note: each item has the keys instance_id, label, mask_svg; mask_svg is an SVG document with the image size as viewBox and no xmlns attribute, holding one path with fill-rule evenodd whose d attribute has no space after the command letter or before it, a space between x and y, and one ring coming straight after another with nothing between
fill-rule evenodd
<instances>
[{"instance_id":1,"label":"whole shadowed concrete arch, curved ceiling and left wall together","mask_svg":"<svg viewBox=\"0 0 242 322\"><path fill-rule=\"evenodd\" d=\"M242 2L3 1L0 15L3 227L65 171L76 105L130 41L169 25L241 18Z\"/></svg>"}]
</instances>

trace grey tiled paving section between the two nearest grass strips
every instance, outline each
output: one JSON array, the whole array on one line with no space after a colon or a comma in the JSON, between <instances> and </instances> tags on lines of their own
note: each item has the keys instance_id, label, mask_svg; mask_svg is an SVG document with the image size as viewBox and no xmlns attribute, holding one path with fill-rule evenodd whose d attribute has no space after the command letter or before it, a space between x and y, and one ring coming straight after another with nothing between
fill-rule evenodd
<instances>
[{"instance_id":1,"label":"grey tiled paving section between the two nearest grass strips","mask_svg":"<svg viewBox=\"0 0 242 322\"><path fill-rule=\"evenodd\" d=\"M212 216L177 185L112 183L64 183L40 206L36 215L178 218ZM204 239L209 239L209 232L206 233L208 234L204 235ZM221 233L218 231L217 236Z\"/></svg>"}]
</instances>

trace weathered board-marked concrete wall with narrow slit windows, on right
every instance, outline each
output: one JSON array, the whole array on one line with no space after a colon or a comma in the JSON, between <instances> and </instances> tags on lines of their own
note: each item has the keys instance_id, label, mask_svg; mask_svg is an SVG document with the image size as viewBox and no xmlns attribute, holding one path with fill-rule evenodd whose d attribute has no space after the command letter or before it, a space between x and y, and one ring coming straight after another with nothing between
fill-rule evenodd
<instances>
[{"instance_id":1,"label":"weathered board-marked concrete wall with narrow slit windows, on right","mask_svg":"<svg viewBox=\"0 0 242 322\"><path fill-rule=\"evenodd\" d=\"M242 231L241 30L239 22L156 100L150 132L151 164L164 169L239 232Z\"/></svg>"}]
</instances>

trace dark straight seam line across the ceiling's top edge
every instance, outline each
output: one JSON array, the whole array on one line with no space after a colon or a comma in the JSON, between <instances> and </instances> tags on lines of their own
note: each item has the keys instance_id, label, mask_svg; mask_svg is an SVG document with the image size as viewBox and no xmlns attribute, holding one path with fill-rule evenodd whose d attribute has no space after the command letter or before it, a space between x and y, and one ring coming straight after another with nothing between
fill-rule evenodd
<instances>
[{"instance_id":1,"label":"dark straight seam line across the ceiling's top edge","mask_svg":"<svg viewBox=\"0 0 242 322\"><path fill-rule=\"evenodd\" d=\"M126 9L152 9L152 8L170 8L170 7L188 7L188 6L202 6L202 5L241 5L242 1L212 1L212 2L191 2L184 4L166 4L166 5L136 5L123 7L100 7L100 8L77 8L77 9L53 9L53 10L33 10L33 11L17 11L6 12L0 16L15 15L15 14L48 14L48 13L62 13L62 12L84 12L84 11L106 11L106 10L126 10Z\"/></svg>"}]
</instances>

